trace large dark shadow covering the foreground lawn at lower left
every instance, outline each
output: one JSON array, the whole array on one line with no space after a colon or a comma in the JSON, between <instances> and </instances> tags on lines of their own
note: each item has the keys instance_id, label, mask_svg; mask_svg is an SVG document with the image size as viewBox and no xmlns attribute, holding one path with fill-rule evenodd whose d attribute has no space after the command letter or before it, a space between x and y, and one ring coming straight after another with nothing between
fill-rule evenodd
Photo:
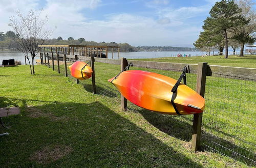
<instances>
[{"instance_id":1,"label":"large dark shadow covering the foreground lawn at lower left","mask_svg":"<svg viewBox=\"0 0 256 168\"><path fill-rule=\"evenodd\" d=\"M0 105L15 105L13 100L2 97ZM43 163L45 166L202 167L101 102L46 102L27 107L26 100L15 101L23 103L22 117L6 118L12 129L10 135L0 138L5 151L2 165L40 166L30 159L33 153L49 145L63 145L72 152Z\"/></svg>"}]
</instances>

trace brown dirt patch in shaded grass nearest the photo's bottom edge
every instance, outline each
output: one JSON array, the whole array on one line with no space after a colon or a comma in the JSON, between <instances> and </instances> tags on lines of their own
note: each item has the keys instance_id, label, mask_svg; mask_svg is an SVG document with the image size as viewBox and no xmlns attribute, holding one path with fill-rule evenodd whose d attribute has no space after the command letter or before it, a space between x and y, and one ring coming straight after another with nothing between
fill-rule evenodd
<instances>
[{"instance_id":1,"label":"brown dirt patch in shaded grass nearest the photo's bottom edge","mask_svg":"<svg viewBox=\"0 0 256 168\"><path fill-rule=\"evenodd\" d=\"M69 146L47 146L40 151L34 152L30 160L34 160L38 163L50 163L62 158L70 152L72 152L72 149Z\"/></svg>"}]
</instances>

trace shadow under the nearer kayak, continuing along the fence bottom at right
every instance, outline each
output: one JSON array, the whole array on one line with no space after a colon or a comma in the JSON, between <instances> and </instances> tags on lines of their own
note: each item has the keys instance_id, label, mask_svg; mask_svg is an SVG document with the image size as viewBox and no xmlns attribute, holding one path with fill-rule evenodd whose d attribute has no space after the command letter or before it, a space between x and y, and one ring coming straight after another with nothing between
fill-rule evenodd
<instances>
[{"instance_id":1,"label":"shadow under the nearer kayak, continuing along the fence bottom at right","mask_svg":"<svg viewBox=\"0 0 256 168\"><path fill-rule=\"evenodd\" d=\"M190 142L192 137L192 128L193 123L190 119L184 116L168 116L158 114L152 111L148 111L145 109L137 110L149 123L154 125L160 131L179 138L183 141ZM180 121L178 118L182 117L186 122ZM191 124L189 124L191 123ZM214 127L205 125L210 130L215 130ZM220 133L225 134L229 138L233 138L233 135L227 134L221 130L218 130ZM241 161L244 164L249 166L255 166L254 153L252 151L246 150L240 146L237 146L233 142L227 141L226 139L220 138L216 135L213 135L209 132L202 130L202 138L201 141L203 144L201 150L214 150L213 152L224 154L228 157L231 157L234 160ZM210 147L210 148L209 148ZM217 150L217 151L215 151Z\"/></svg>"}]
</instances>

